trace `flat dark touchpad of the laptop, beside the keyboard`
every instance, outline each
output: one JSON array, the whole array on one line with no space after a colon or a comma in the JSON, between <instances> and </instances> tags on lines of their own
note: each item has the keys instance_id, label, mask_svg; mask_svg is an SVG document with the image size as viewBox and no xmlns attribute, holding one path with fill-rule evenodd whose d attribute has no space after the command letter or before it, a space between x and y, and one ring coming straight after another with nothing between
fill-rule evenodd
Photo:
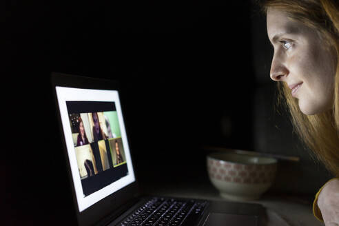
<instances>
[{"instance_id":1,"label":"flat dark touchpad of the laptop, beside the keyboard","mask_svg":"<svg viewBox=\"0 0 339 226\"><path fill-rule=\"evenodd\" d=\"M205 226L256 226L257 222L257 216L210 213Z\"/></svg>"}]
</instances>

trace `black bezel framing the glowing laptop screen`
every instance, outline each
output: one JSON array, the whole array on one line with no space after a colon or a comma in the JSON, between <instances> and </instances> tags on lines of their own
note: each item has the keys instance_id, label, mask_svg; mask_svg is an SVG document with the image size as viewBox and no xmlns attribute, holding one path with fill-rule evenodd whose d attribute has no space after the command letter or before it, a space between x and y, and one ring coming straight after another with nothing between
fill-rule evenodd
<instances>
[{"instance_id":1,"label":"black bezel framing the glowing laptop screen","mask_svg":"<svg viewBox=\"0 0 339 226\"><path fill-rule=\"evenodd\" d=\"M137 175L134 172L135 181L119 189L114 194L110 194L109 196L101 199L91 207L84 209L82 212L79 212L78 203L76 200L76 193L74 187L74 181L72 178L72 172L70 168L70 162L68 161L68 150L65 141L65 134L63 132L63 125L61 120L61 114L59 111L59 103L57 101L56 95L56 86L67 87L67 88L80 88L80 89L90 89L90 90L116 90L119 92L119 96L121 97L121 89L119 87L119 83L117 81L107 80L107 79L94 79L90 77L83 76L74 76L70 74L61 74L52 72L51 74L52 88L54 93L54 100L56 103L56 113L59 121L59 131L61 132L62 144L63 144L63 152L65 154L65 160L68 166L68 178L70 179L70 185L72 187L72 197L74 207L76 209L76 218L78 220L78 224L81 226L85 225L93 225L97 223L100 219L106 218L108 215L114 215L114 212L117 212L117 209L121 207L124 203L130 202L135 197L139 196L139 189L137 183ZM121 103L121 98L120 98ZM123 111L123 103L121 103L121 109ZM125 123L125 116L123 123ZM126 134L128 137L127 128ZM128 140L127 140L128 141ZM130 143L128 143L130 146ZM132 167L134 169L134 160L133 154L130 147L130 153L132 158Z\"/></svg>"}]
</instances>

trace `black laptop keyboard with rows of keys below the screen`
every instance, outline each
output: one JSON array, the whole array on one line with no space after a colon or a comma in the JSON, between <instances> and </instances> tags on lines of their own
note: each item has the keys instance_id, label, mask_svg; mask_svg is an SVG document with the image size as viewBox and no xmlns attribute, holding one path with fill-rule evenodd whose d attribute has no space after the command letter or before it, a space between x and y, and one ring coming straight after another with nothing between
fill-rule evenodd
<instances>
[{"instance_id":1,"label":"black laptop keyboard with rows of keys below the screen","mask_svg":"<svg viewBox=\"0 0 339 226\"><path fill-rule=\"evenodd\" d=\"M121 226L184 226L194 225L203 215L205 201L152 198L127 216Z\"/></svg>"}]
</instances>

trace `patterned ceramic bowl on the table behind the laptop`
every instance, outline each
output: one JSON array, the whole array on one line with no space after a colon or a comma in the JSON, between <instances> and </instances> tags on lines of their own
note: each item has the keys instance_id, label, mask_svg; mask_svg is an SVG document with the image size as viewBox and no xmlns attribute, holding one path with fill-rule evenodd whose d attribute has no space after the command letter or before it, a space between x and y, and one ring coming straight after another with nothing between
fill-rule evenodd
<instances>
[{"instance_id":1,"label":"patterned ceramic bowl on the table behind the laptop","mask_svg":"<svg viewBox=\"0 0 339 226\"><path fill-rule=\"evenodd\" d=\"M267 191L276 176L276 158L236 153L207 156L209 179L223 198L253 201Z\"/></svg>"}]
</instances>

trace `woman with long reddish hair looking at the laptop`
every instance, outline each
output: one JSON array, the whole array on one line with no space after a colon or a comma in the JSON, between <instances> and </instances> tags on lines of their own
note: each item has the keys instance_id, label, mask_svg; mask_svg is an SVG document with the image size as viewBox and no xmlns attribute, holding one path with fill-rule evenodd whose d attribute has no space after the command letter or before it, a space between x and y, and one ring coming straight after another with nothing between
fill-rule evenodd
<instances>
[{"instance_id":1,"label":"woman with long reddish hair looking at the laptop","mask_svg":"<svg viewBox=\"0 0 339 226\"><path fill-rule=\"evenodd\" d=\"M339 176L339 1L261 1L274 47L271 79L278 82L302 141ZM339 225L339 180L316 194L314 215Z\"/></svg>"}]
</instances>

